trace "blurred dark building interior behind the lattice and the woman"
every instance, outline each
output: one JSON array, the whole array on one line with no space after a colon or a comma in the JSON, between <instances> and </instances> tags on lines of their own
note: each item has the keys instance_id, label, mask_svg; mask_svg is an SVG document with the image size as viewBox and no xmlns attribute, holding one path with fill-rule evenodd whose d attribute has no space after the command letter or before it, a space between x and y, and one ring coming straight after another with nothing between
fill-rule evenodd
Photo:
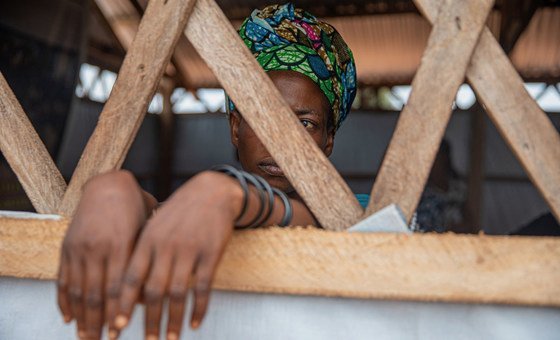
<instances>
[{"instance_id":1,"label":"blurred dark building interior behind the lattice and the woman","mask_svg":"<svg viewBox=\"0 0 560 340\"><path fill-rule=\"evenodd\" d=\"M252 9L277 1L217 2L237 27ZM369 193L430 25L407 0L293 2L333 24L354 51L359 92L331 160L355 193ZM145 0L0 3L0 71L67 180L145 5ZM487 25L560 129L560 1L497 0ZM199 171L236 163L220 84L186 39L178 48L124 164L160 200ZM457 95L428 189L454 196L461 210L456 223L487 233L511 232L548 212L467 84ZM32 209L0 158L0 210Z\"/></svg>"}]
</instances>

